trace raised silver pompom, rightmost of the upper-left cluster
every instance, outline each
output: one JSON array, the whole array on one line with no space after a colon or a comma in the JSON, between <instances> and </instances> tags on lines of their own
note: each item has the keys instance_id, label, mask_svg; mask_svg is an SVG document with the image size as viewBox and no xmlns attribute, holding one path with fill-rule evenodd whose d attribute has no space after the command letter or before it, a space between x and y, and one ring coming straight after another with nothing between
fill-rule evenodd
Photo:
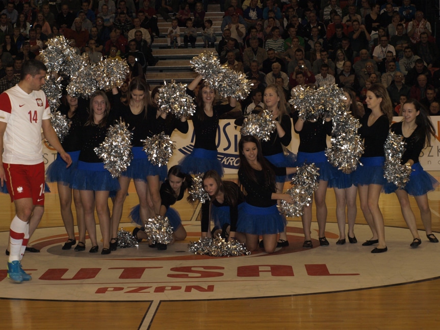
<instances>
[{"instance_id":1,"label":"raised silver pompom, rightmost of the upper-left cluster","mask_svg":"<svg viewBox=\"0 0 440 330\"><path fill-rule=\"evenodd\" d=\"M92 73L97 88L108 90L122 86L130 73L130 68L125 61L105 59L96 64Z\"/></svg>"}]
</instances>

